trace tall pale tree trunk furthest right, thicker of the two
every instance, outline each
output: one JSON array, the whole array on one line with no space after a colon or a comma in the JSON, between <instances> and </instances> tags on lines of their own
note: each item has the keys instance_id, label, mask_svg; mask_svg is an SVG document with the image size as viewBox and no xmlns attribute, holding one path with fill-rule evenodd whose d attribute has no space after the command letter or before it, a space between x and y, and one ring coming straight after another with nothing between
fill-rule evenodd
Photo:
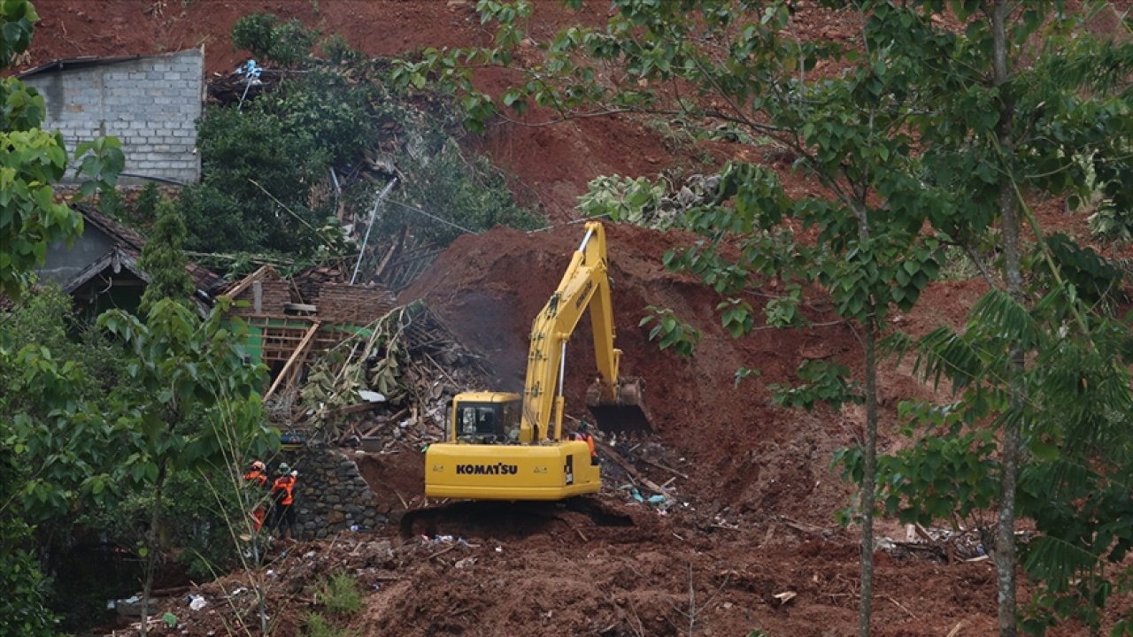
<instances>
[{"instance_id":1,"label":"tall pale tree trunk furthest right, thicker of the two","mask_svg":"<svg viewBox=\"0 0 1133 637\"><path fill-rule=\"evenodd\" d=\"M1010 88L1007 67L1007 0L996 0L991 14L991 29L995 41L994 68L995 86L999 87L999 148L1003 169L1007 171L999 185L999 214L1003 222L1004 273L1007 282L1007 294L1015 300L1023 300L1023 277L1020 265L1019 231L1020 219L1015 202L1014 185L1011 180L1011 155L1014 153L1013 114L1014 103ZM1000 450L1002 476L999 481L999 515L996 521L996 580L999 600L999 637L1015 637L1015 490L1019 479L1020 447L1022 444L1023 406L1025 389L1022 384L1023 350L1013 346L1011 349L1011 400L1010 414L1004 419L1003 443Z\"/></svg>"}]
</instances>

